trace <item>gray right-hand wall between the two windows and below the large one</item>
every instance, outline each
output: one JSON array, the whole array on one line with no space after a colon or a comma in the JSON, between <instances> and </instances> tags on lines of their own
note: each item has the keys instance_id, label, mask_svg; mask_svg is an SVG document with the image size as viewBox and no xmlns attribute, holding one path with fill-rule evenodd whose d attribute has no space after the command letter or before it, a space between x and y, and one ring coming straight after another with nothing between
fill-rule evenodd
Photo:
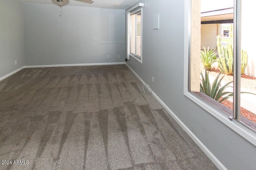
<instances>
[{"instance_id":1,"label":"gray right-hand wall between the two windows and below the large one","mask_svg":"<svg viewBox=\"0 0 256 170\"><path fill-rule=\"evenodd\" d=\"M127 64L226 168L255 169L256 147L183 94L184 1L140 2L144 3L142 64L132 57ZM160 29L153 29L156 14Z\"/></svg>"}]
</instances>

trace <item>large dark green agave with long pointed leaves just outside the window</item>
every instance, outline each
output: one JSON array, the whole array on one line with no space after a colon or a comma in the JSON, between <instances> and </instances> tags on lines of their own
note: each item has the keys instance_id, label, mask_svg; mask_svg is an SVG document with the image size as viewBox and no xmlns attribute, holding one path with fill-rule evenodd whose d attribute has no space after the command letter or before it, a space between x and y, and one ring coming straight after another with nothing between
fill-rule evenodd
<instances>
[{"instance_id":1,"label":"large dark green agave with long pointed leaves just outside the window","mask_svg":"<svg viewBox=\"0 0 256 170\"><path fill-rule=\"evenodd\" d=\"M210 96L211 98L213 98L214 100L216 100L220 103L224 100L227 100L228 98L232 98L234 95L233 92L224 92L224 90L226 90L226 88L230 88L230 87L233 88L232 86L230 86L230 84L233 81L226 83L224 86L221 86L221 81L225 76L224 75L224 76L222 76L222 78L220 78L221 74L223 74L223 73L220 72L220 74L218 74L218 76L215 78L215 80L213 81L212 86L211 86L210 80L209 80L209 72L207 70L205 70L204 75L202 74L202 71L200 73L201 78L202 78L202 84L200 83L200 92L206 94L207 96ZM254 94L254 93L250 93L250 92L240 92L240 93ZM254 95L256 95L256 94L254 94ZM222 97L222 99L220 100L221 97Z\"/></svg>"}]
</instances>

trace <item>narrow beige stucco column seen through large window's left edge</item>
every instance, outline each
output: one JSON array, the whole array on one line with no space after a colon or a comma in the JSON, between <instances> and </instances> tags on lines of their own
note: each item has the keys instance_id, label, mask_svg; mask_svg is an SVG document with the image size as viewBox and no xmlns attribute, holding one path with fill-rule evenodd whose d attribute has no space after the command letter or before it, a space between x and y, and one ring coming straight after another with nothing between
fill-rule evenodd
<instances>
[{"instance_id":1,"label":"narrow beige stucco column seen through large window's left edge","mask_svg":"<svg viewBox=\"0 0 256 170\"><path fill-rule=\"evenodd\" d=\"M200 91L201 0L191 1L190 90Z\"/></svg>"}]
</instances>

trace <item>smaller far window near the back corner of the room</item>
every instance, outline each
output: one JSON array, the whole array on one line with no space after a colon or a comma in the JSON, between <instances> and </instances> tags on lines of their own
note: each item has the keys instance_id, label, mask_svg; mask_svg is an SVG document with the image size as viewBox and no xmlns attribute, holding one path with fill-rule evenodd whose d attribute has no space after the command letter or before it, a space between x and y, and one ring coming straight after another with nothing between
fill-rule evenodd
<instances>
[{"instance_id":1,"label":"smaller far window near the back corner of the room","mask_svg":"<svg viewBox=\"0 0 256 170\"><path fill-rule=\"evenodd\" d=\"M142 63L142 8L130 12L130 56Z\"/></svg>"}]
</instances>

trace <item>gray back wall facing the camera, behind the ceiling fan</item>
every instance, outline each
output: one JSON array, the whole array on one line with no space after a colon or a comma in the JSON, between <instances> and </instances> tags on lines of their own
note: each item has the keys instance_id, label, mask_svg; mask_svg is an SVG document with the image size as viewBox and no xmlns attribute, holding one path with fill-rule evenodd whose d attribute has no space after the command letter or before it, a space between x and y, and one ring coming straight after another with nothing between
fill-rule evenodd
<instances>
[{"instance_id":1,"label":"gray back wall facing the camera, behind the ceiling fan","mask_svg":"<svg viewBox=\"0 0 256 170\"><path fill-rule=\"evenodd\" d=\"M56 5L24 4L26 66L125 61L124 10L62 10L60 16Z\"/></svg>"}]
</instances>

